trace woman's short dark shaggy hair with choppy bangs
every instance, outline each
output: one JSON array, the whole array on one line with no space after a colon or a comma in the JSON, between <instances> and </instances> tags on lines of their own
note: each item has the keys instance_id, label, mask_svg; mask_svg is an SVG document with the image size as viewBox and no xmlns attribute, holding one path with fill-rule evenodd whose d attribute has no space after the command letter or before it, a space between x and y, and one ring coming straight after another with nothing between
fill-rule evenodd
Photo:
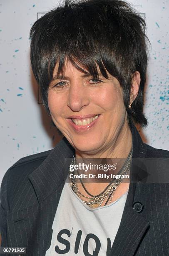
<instances>
[{"instance_id":1,"label":"woman's short dark shaggy hair with choppy bangs","mask_svg":"<svg viewBox=\"0 0 169 256\"><path fill-rule=\"evenodd\" d=\"M144 19L121 0L66 0L37 20L30 31L32 70L48 109L47 89L62 74L65 60L98 78L98 68L107 78L116 77L122 87L129 120L147 125L143 114L143 89L147 70L147 36ZM85 70L82 69L84 67ZM128 107L132 77L138 71L141 83L137 98Z\"/></svg>"}]
</instances>

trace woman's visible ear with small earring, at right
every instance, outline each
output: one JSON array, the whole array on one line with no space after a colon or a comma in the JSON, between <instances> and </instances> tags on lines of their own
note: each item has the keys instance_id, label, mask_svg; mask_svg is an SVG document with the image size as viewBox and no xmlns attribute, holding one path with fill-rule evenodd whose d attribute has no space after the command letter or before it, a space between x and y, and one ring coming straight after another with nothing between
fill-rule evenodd
<instances>
[{"instance_id":1,"label":"woman's visible ear with small earring, at right","mask_svg":"<svg viewBox=\"0 0 169 256\"><path fill-rule=\"evenodd\" d=\"M139 85L140 85L140 73L136 71L132 77L132 87L131 87L131 93L130 93L130 104L133 103L135 98L138 95L139 92Z\"/></svg>"}]
</instances>

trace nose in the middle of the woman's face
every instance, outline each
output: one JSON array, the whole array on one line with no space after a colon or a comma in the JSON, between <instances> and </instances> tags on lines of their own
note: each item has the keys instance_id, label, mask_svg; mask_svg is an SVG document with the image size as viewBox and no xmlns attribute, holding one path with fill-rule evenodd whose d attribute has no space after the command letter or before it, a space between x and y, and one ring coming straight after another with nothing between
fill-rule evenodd
<instances>
[{"instance_id":1,"label":"nose in the middle of the woman's face","mask_svg":"<svg viewBox=\"0 0 169 256\"><path fill-rule=\"evenodd\" d=\"M90 97L87 93L87 88L82 82L72 82L68 93L67 106L72 111L78 112L89 105Z\"/></svg>"}]
</instances>

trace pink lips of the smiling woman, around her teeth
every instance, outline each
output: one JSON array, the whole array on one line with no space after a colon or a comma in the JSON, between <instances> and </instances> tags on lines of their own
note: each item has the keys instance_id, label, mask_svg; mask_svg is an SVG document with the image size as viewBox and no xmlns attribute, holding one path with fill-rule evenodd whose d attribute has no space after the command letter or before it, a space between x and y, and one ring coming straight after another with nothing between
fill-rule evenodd
<instances>
[{"instance_id":1,"label":"pink lips of the smiling woman, around her teeth","mask_svg":"<svg viewBox=\"0 0 169 256\"><path fill-rule=\"evenodd\" d=\"M83 116L73 116L71 118L67 118L67 122L72 126L72 128L76 131L76 132L85 132L85 131L89 131L96 123L97 120L99 119L100 115L98 115L98 118L95 119L94 121L92 121L92 123L89 123L87 125L76 125L75 123L73 123L72 118L75 119L83 119L83 118L89 118L89 117L93 117L95 115L83 115Z\"/></svg>"}]
</instances>

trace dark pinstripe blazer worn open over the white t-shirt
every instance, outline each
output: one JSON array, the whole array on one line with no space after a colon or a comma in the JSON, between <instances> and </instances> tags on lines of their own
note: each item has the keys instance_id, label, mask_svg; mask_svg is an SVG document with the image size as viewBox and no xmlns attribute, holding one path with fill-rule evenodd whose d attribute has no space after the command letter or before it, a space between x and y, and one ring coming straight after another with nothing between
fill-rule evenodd
<instances>
[{"instance_id":1,"label":"dark pinstripe blazer worn open over the white t-shirt","mask_svg":"<svg viewBox=\"0 0 169 256\"><path fill-rule=\"evenodd\" d=\"M134 125L132 136L134 158L169 158L169 151L144 144ZM72 158L73 153L73 148L62 139L54 150L20 159L7 171L1 186L3 247L24 246L29 256L45 255L50 247L52 223L65 182L63 159ZM168 171L167 166L155 166L153 171L162 170ZM141 203L142 212L133 209L135 202ZM169 255L169 184L131 182L109 255Z\"/></svg>"}]
</instances>

